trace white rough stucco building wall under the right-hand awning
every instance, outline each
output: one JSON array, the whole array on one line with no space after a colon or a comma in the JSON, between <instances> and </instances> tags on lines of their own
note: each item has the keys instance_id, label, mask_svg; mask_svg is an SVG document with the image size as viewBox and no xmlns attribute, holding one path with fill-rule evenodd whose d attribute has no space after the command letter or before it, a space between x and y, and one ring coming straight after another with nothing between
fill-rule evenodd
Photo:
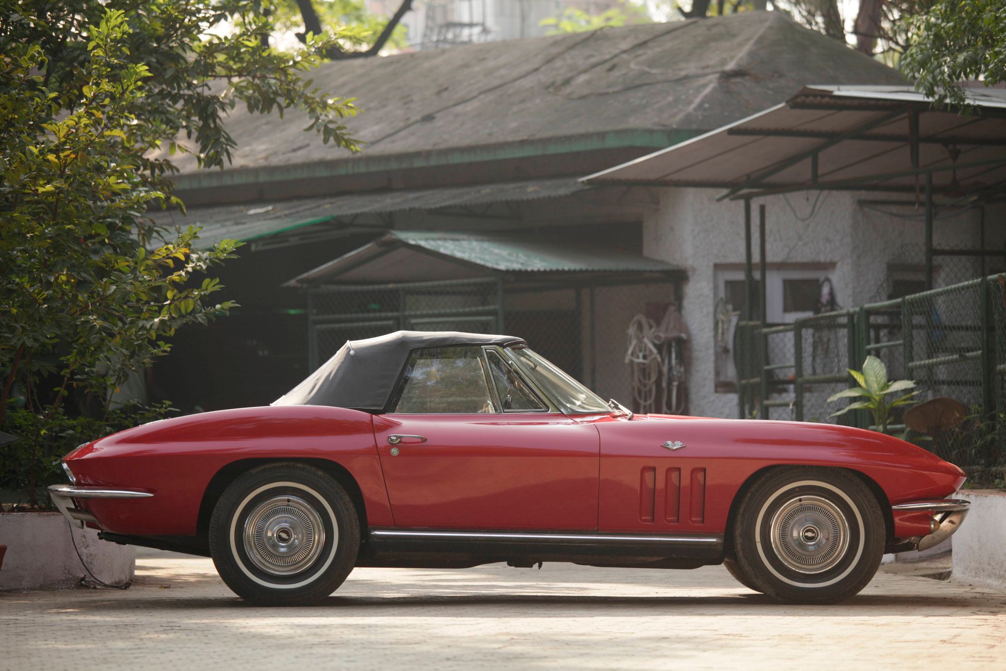
<instances>
[{"instance_id":1,"label":"white rough stucco building wall under the right-hand awning","mask_svg":"<svg viewBox=\"0 0 1006 671\"><path fill-rule=\"evenodd\" d=\"M743 204L715 200L720 191L668 188L660 193L660 207L646 216L643 252L646 256L686 268L682 314L692 331L689 370L689 405L692 414L735 417L733 393L715 391L714 266L744 260ZM766 206L767 259L770 264L834 263L829 275L842 307L886 298L889 264L921 264L925 228L921 210L882 207L902 217L868 210L858 202L876 194L833 191L791 193L756 200L751 208L754 270L758 271L758 206ZM906 196L898 199L907 200ZM1002 208L986 212L986 246L1001 246ZM807 221L802 221L807 220ZM940 214L934 227L936 247L976 248L979 214L968 211ZM940 260L937 260L940 263ZM955 267L960 268L960 261ZM977 261L972 276L977 276ZM941 281L938 273L936 284ZM960 281L958 278L948 278Z\"/></svg>"}]
</instances>

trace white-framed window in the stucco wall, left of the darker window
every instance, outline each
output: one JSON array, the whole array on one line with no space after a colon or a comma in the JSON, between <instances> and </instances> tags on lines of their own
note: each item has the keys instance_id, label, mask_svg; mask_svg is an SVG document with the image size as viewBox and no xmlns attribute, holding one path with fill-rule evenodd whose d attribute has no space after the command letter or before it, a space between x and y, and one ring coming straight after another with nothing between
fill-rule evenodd
<instances>
[{"instance_id":1,"label":"white-framed window in the stucco wall, left of the darker window","mask_svg":"<svg viewBox=\"0 0 1006 671\"><path fill-rule=\"evenodd\" d=\"M834 309L831 275L835 264L771 264L766 271L766 310L770 323L790 323L810 316L828 303ZM761 273L753 270L751 319L761 318ZM747 304L743 264L717 264L713 271L716 391L736 391L734 332Z\"/></svg>"}]
</instances>

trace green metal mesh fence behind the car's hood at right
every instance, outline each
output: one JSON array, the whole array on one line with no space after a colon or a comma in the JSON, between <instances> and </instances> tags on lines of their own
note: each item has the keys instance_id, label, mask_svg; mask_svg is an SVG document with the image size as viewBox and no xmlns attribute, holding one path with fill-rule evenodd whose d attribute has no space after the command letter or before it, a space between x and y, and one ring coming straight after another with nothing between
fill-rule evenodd
<instances>
[{"instance_id":1,"label":"green metal mesh fence behind the car's hood at right","mask_svg":"<svg viewBox=\"0 0 1006 671\"><path fill-rule=\"evenodd\" d=\"M914 433L893 418L888 432L951 460L973 484L1006 479L1006 282L991 276L787 324L737 325L741 417L870 427L865 411L829 417L848 402L828 397L854 385L867 355L891 380L917 384L919 401L947 397L968 416L959 426Z\"/></svg>"}]
</instances>

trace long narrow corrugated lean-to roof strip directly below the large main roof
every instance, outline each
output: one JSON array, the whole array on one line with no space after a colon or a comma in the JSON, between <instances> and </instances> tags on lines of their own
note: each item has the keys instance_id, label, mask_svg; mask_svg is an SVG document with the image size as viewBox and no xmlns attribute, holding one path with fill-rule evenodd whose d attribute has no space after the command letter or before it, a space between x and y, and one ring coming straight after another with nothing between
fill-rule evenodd
<instances>
[{"instance_id":1,"label":"long narrow corrugated lean-to roof strip directly below the large main roof","mask_svg":"<svg viewBox=\"0 0 1006 671\"><path fill-rule=\"evenodd\" d=\"M554 198L591 188L575 177L539 179L472 186L446 186L398 191L347 193L330 197L299 198L215 208L157 212L152 218L167 227L202 227L199 246L209 248L224 239L247 242L315 224L358 215L409 210L443 210Z\"/></svg>"}]
</instances>

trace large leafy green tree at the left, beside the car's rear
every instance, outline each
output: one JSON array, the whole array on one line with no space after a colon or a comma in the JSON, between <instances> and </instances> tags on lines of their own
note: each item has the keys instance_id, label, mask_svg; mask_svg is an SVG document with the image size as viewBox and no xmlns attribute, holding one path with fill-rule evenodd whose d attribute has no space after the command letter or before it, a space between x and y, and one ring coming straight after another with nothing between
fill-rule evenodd
<instances>
[{"instance_id":1,"label":"large leafy green tree at the left, beside the car's rear","mask_svg":"<svg viewBox=\"0 0 1006 671\"><path fill-rule=\"evenodd\" d=\"M231 306L212 300L220 285L205 273L236 245L200 251L197 231L147 218L150 207L181 206L170 157L151 152L167 143L222 167L234 146L222 118L238 103L303 110L309 129L355 149L342 126L354 109L303 78L343 35L309 35L281 53L262 45L272 24L244 3L22 0L2 10L0 428L20 439L0 448L0 486L41 503L35 488L80 422L123 428L163 414L124 414L113 392L166 354L177 328Z\"/></svg>"}]
</instances>

